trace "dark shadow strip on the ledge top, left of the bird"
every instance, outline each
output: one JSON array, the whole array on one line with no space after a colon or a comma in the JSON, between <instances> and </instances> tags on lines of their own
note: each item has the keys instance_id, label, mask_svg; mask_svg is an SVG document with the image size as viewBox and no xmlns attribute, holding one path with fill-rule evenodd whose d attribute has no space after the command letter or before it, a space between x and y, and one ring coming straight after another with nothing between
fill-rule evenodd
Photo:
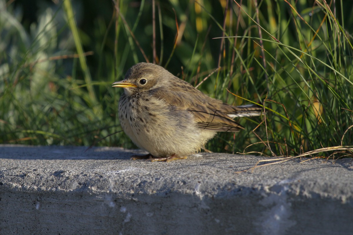
<instances>
[{"instance_id":1,"label":"dark shadow strip on the ledge top, left of the bird","mask_svg":"<svg viewBox=\"0 0 353 235\"><path fill-rule=\"evenodd\" d=\"M24 146L1 145L0 159L14 160L130 160L132 155L143 155L139 149L85 146Z\"/></svg>"}]
</instances>

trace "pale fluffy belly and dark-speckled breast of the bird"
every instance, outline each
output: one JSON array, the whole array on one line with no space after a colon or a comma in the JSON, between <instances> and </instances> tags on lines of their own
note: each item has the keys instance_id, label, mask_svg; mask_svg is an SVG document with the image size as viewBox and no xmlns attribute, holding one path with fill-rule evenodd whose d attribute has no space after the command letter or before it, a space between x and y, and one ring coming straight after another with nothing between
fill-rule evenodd
<instances>
[{"instance_id":1,"label":"pale fluffy belly and dark-speckled breast of the bird","mask_svg":"<svg viewBox=\"0 0 353 235\"><path fill-rule=\"evenodd\" d=\"M137 100L129 100L130 105L125 106L119 101L119 118L131 140L154 156L196 153L216 134L197 128L188 111L177 110L161 100L149 101L148 105L140 105Z\"/></svg>"}]
</instances>

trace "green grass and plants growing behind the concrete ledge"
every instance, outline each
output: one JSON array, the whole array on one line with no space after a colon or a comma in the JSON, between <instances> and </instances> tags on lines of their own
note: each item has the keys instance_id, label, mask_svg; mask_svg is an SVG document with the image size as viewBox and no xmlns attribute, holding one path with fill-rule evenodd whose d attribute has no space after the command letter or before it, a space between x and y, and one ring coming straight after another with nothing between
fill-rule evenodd
<instances>
[{"instance_id":1,"label":"green grass and plants growing behind the concrete ledge","mask_svg":"<svg viewBox=\"0 0 353 235\"><path fill-rule=\"evenodd\" d=\"M90 146L121 130L122 90L111 84L149 61L211 97L264 104L211 151L350 146L352 9L343 0L0 0L0 143ZM134 147L123 132L96 145Z\"/></svg>"}]
</instances>

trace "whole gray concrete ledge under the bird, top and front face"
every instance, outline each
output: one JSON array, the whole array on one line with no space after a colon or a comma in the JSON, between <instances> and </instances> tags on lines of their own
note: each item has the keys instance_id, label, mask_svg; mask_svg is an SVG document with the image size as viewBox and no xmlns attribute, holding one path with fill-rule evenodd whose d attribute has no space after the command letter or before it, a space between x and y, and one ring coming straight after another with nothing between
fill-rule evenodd
<instances>
[{"instance_id":1,"label":"whole gray concrete ledge under the bird, top and front face","mask_svg":"<svg viewBox=\"0 0 353 235\"><path fill-rule=\"evenodd\" d=\"M0 145L0 234L353 234L352 159L85 149Z\"/></svg>"}]
</instances>

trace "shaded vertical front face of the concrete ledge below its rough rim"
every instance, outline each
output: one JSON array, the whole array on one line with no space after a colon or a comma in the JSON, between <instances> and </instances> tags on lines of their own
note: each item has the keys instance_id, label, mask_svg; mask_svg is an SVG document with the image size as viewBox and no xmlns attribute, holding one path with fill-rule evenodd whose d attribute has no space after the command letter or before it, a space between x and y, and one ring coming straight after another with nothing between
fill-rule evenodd
<instances>
[{"instance_id":1,"label":"shaded vertical front face of the concrete ledge below its rough rim","mask_svg":"<svg viewBox=\"0 0 353 235\"><path fill-rule=\"evenodd\" d=\"M122 197L5 187L0 234L352 234L351 202L275 188L245 187L216 197L181 192Z\"/></svg>"}]
</instances>

